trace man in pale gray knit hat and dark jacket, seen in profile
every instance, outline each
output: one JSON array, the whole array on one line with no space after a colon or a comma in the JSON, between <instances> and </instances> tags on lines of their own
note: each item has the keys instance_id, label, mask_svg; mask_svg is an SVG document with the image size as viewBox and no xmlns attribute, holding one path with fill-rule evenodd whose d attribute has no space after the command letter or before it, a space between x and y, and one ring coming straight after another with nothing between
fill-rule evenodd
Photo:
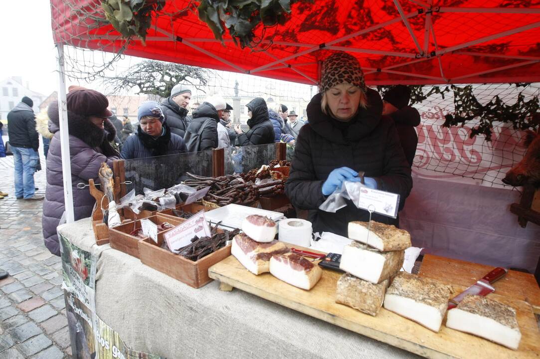
<instances>
[{"instance_id":1,"label":"man in pale gray knit hat and dark jacket, seen in profile","mask_svg":"<svg viewBox=\"0 0 540 359\"><path fill-rule=\"evenodd\" d=\"M187 116L187 106L191 100L191 89L178 84L171 90L171 96L161 101L161 111L165 116L165 123L171 132L184 138L186 128L190 124Z\"/></svg>"}]
</instances>

